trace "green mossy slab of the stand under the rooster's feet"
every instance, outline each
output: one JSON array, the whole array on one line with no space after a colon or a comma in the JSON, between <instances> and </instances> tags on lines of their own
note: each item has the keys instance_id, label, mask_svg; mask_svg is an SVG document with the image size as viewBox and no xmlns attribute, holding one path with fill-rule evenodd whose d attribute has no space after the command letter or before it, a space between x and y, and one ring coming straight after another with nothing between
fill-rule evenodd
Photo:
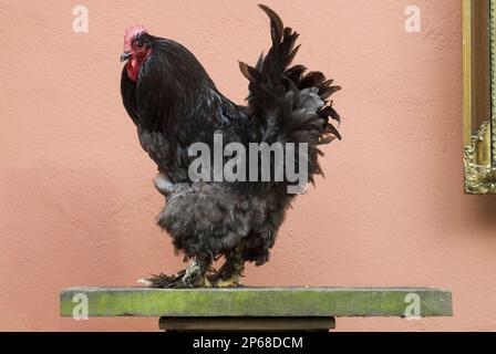
<instances>
[{"instance_id":1,"label":"green mossy slab of the stand under the rooster's feet","mask_svg":"<svg viewBox=\"0 0 496 354\"><path fill-rule=\"evenodd\" d=\"M404 316L409 294L420 299L421 316L453 314L451 292L437 289L72 288L60 294L63 316L81 303L76 294L87 298L90 316Z\"/></svg>"}]
</instances>

